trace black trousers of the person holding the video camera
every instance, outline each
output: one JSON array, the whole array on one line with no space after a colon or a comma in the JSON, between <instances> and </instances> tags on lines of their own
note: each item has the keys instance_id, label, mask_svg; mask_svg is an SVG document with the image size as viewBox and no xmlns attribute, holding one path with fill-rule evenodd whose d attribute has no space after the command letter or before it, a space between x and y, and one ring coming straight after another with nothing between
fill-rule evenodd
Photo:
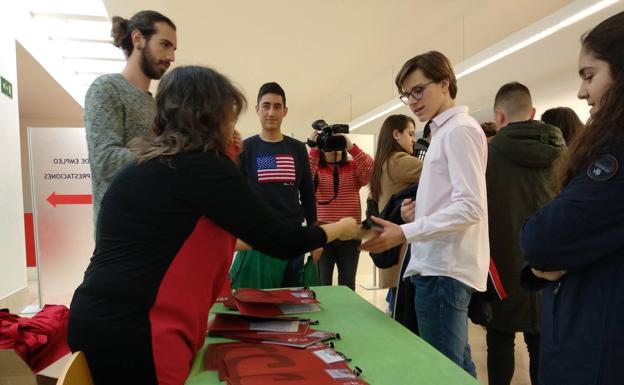
<instances>
[{"instance_id":1,"label":"black trousers of the person holding the video camera","mask_svg":"<svg viewBox=\"0 0 624 385\"><path fill-rule=\"evenodd\" d=\"M334 265L338 266L338 284L355 290L355 273L360 259L360 241L335 240L323 246L319 259L321 285L331 286Z\"/></svg>"}]
</instances>

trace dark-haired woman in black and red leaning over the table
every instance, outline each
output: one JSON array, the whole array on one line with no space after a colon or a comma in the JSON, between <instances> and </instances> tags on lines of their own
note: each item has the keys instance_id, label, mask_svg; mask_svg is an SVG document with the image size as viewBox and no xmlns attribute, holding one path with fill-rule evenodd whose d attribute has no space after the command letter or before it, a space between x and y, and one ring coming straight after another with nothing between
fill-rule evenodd
<instances>
[{"instance_id":1,"label":"dark-haired woman in black and red leaning over the table","mask_svg":"<svg viewBox=\"0 0 624 385\"><path fill-rule=\"evenodd\" d=\"M245 97L218 72L163 77L151 137L104 195L96 244L74 294L69 345L96 385L182 384L205 338L236 238L280 258L359 233L353 218L320 227L280 221L226 155Z\"/></svg>"}]
</instances>

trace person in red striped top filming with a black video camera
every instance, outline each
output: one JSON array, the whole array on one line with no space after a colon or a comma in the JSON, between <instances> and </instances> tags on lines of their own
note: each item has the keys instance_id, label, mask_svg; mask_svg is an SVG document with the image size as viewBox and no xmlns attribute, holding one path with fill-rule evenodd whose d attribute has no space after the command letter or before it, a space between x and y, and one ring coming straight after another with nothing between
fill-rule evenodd
<instances>
[{"instance_id":1,"label":"person in red striped top filming with a black video camera","mask_svg":"<svg viewBox=\"0 0 624 385\"><path fill-rule=\"evenodd\" d=\"M362 151L348 136L348 126L328 126L314 122L315 130L308 139L310 170L314 176L316 215L319 223L333 223L352 217L360 223L362 209L360 188L370 182L373 158ZM352 159L348 159L348 155ZM334 241L323 248L319 260L321 285L332 285L334 265L338 267L338 284L355 290L355 274L360 257L360 241Z\"/></svg>"}]
</instances>

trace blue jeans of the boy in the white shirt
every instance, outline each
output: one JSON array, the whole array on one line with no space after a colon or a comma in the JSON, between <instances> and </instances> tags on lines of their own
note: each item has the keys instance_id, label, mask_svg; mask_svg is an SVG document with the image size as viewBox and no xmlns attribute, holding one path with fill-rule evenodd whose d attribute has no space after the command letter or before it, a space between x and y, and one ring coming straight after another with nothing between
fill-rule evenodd
<instances>
[{"instance_id":1,"label":"blue jeans of the boy in the white shirt","mask_svg":"<svg viewBox=\"0 0 624 385\"><path fill-rule=\"evenodd\" d=\"M450 277L412 276L420 337L473 377L468 345L468 304L473 289Z\"/></svg>"}]
</instances>

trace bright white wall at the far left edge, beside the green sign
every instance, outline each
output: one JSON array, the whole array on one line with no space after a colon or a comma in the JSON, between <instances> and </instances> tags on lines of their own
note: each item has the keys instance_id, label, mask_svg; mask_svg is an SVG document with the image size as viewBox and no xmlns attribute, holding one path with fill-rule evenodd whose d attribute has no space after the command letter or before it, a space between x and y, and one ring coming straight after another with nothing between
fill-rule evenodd
<instances>
[{"instance_id":1,"label":"bright white wall at the far left edge, beside the green sign","mask_svg":"<svg viewBox=\"0 0 624 385\"><path fill-rule=\"evenodd\" d=\"M0 94L0 299L27 285L15 37L11 17L4 19L0 23L0 75L13 84L13 99Z\"/></svg>"}]
</instances>

